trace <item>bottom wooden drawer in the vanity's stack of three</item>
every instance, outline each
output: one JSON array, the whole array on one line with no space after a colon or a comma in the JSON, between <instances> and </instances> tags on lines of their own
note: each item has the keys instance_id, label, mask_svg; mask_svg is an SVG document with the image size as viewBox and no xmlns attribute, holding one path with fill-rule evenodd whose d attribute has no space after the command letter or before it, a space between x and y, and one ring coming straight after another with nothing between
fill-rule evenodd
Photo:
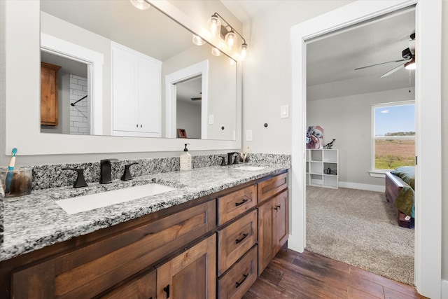
<instances>
[{"instance_id":1,"label":"bottom wooden drawer in the vanity's stack of three","mask_svg":"<svg viewBox=\"0 0 448 299\"><path fill-rule=\"evenodd\" d=\"M257 245L218 279L218 298L241 298L257 279Z\"/></svg>"}]
</instances>

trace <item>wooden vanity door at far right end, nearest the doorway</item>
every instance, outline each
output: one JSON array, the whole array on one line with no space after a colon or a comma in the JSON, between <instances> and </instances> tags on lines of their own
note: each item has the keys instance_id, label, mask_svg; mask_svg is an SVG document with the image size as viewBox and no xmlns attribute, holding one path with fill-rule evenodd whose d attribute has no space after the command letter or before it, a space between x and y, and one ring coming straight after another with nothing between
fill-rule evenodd
<instances>
[{"instance_id":1,"label":"wooden vanity door at far right end, nearest the doorway","mask_svg":"<svg viewBox=\"0 0 448 299\"><path fill-rule=\"evenodd\" d=\"M275 251L274 256L281 249L281 246L288 240L289 211L288 211L288 189L275 198L274 207L274 233Z\"/></svg>"}]
</instances>

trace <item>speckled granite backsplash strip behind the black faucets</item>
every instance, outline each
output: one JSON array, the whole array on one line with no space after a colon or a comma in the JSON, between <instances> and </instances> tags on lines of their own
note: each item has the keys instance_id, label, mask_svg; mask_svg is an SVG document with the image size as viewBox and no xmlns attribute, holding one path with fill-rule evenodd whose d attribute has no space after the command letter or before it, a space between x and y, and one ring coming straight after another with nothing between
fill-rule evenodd
<instances>
[{"instance_id":1,"label":"speckled granite backsplash strip behind the black faucets","mask_svg":"<svg viewBox=\"0 0 448 299\"><path fill-rule=\"evenodd\" d=\"M227 160L227 153L222 153L219 155L193 155L193 168L220 165L221 156L225 157ZM120 179L125 170L125 165L132 162L139 163L137 165L132 165L132 167L130 168L132 176L146 176L150 174L174 172L180 169L179 157L120 160L118 162L111 163L112 179ZM265 163L276 165L290 165L290 155L251 153L248 156L248 162L258 164ZM73 183L76 179L76 172L70 170L62 170L63 168L84 169L84 178L87 184L97 183L99 181L99 161L59 165L38 165L33 167L32 189L41 190L48 188L73 186Z\"/></svg>"}]
</instances>

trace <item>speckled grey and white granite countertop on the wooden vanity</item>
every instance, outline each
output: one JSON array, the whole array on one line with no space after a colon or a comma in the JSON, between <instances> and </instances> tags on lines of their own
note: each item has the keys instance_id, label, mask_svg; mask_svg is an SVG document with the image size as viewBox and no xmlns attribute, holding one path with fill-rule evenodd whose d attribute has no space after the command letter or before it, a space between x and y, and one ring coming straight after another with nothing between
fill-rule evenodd
<instances>
[{"instance_id":1,"label":"speckled grey and white granite countertop on the wooden vanity","mask_svg":"<svg viewBox=\"0 0 448 299\"><path fill-rule=\"evenodd\" d=\"M0 245L0 261L289 168L286 165L254 165L265 168L256 171L235 169L240 166L211 166L183 172L165 172L138 176L132 181L118 180L108 185L90 183L86 188L50 188L35 190L31 195L5 198L4 242ZM98 193L105 189L137 186L151 181L176 187L176 190L71 215L66 214L55 202L73 195Z\"/></svg>"}]
</instances>

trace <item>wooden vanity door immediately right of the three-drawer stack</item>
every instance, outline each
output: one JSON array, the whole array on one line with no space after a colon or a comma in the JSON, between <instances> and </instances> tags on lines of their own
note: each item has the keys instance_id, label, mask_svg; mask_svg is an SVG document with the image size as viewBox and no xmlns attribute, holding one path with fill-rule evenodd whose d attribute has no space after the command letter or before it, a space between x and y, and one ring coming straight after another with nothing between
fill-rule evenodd
<instances>
[{"instance_id":1,"label":"wooden vanity door immediately right of the three-drawer stack","mask_svg":"<svg viewBox=\"0 0 448 299\"><path fill-rule=\"evenodd\" d=\"M274 198L258 207L258 274L274 257Z\"/></svg>"}]
</instances>

